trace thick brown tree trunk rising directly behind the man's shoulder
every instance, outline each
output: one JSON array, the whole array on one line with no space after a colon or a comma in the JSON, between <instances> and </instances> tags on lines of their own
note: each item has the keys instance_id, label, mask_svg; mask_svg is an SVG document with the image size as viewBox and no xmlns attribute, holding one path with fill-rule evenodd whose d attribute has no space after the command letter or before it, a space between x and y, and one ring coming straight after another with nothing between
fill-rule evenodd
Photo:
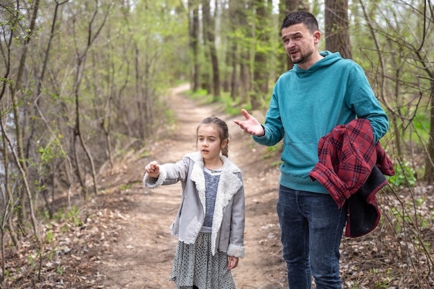
<instances>
[{"instance_id":1,"label":"thick brown tree trunk rising directly behind the man's shoulder","mask_svg":"<svg viewBox=\"0 0 434 289\"><path fill-rule=\"evenodd\" d=\"M348 0L325 0L326 50L351 59L348 26Z\"/></svg>"}]
</instances>

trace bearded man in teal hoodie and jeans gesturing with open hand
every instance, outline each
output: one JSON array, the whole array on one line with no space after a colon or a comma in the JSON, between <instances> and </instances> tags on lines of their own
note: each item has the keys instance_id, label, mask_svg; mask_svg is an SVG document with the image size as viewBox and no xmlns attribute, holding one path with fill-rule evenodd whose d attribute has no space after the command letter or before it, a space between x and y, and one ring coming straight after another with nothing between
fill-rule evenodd
<instances>
[{"instance_id":1,"label":"bearded man in teal hoodie and jeans gesturing with open hand","mask_svg":"<svg viewBox=\"0 0 434 289\"><path fill-rule=\"evenodd\" d=\"M338 208L309 172L318 162L318 142L337 125L367 119L375 143L388 131L388 117L363 69L339 53L318 51L321 33L309 12L286 15L281 24L284 48L295 64L273 89L266 122L246 110L235 123L257 143L274 146L284 139L277 214L290 289L341 288L339 246L347 204Z\"/></svg>"}]
</instances>

